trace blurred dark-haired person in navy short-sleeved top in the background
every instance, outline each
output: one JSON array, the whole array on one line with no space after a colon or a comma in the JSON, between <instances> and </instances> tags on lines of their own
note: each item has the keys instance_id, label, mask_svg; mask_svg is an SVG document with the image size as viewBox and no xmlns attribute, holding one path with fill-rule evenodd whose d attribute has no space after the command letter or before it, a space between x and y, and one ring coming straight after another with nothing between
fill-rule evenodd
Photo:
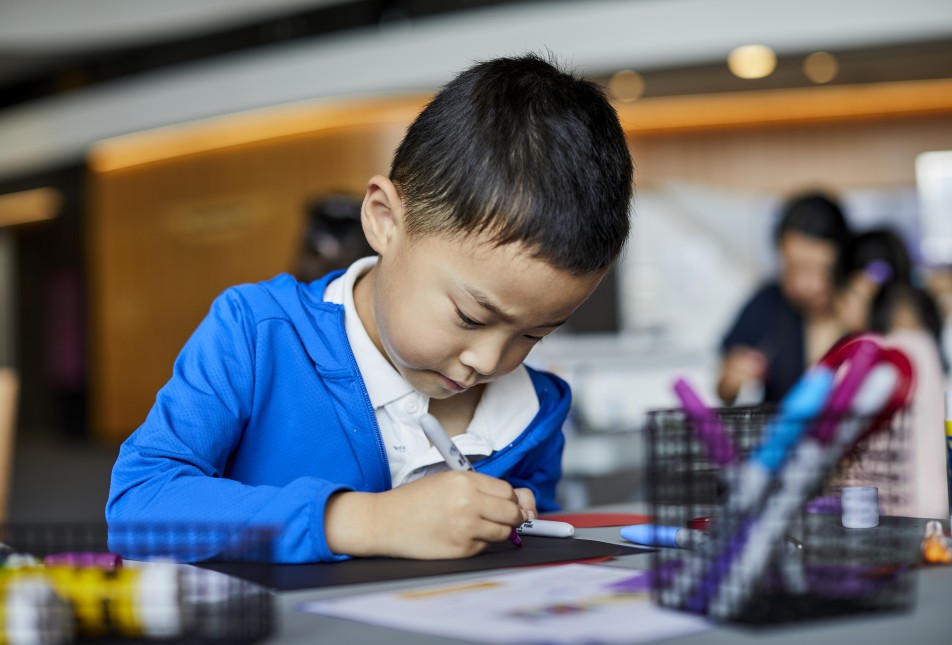
<instances>
[{"instance_id":1,"label":"blurred dark-haired person in navy short-sleeved top in the background","mask_svg":"<svg viewBox=\"0 0 952 645\"><path fill-rule=\"evenodd\" d=\"M744 305L721 342L721 400L778 402L837 340L833 275L850 236L829 195L801 193L784 204L774 236L779 275Z\"/></svg>"}]
</instances>

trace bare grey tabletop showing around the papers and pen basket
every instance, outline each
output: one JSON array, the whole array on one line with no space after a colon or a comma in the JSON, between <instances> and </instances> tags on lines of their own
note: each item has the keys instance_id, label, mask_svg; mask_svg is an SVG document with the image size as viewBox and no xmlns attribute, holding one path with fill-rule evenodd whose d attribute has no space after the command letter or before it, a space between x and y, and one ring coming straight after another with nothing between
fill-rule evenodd
<instances>
[{"instance_id":1,"label":"bare grey tabletop showing around the papers and pen basket","mask_svg":"<svg viewBox=\"0 0 952 645\"><path fill-rule=\"evenodd\" d=\"M643 513L642 505L620 505L592 509L599 512ZM924 524L924 522L923 522ZM618 536L618 527L577 529L576 537L601 540L616 544L629 544ZM651 565L650 554L625 555L605 563L606 566L628 569L647 569ZM294 592L282 592L277 596L277 626L268 643L346 643L362 645L387 643L387 645L447 645L470 643L466 641L433 636L416 632L378 627L327 616L301 612L302 602L335 598L345 595L375 591L417 587L435 582L463 580L485 576L492 572L455 574L433 578L338 586ZM789 643L790 645L896 645L897 643L948 643L952 642L952 566L922 568L915 574L915 601L906 612L881 615L865 614L855 617L787 623L782 626L745 627L741 625L717 625L714 629L699 634L665 640L666 645L733 645L743 643Z\"/></svg>"}]
</instances>

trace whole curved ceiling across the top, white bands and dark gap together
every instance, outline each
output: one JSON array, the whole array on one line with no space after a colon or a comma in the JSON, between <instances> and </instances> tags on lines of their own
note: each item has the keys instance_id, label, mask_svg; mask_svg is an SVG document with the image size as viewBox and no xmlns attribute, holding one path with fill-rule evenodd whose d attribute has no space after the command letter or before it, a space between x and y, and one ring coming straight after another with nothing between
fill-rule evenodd
<instances>
[{"instance_id":1,"label":"whole curved ceiling across the top, white bands and dark gap together","mask_svg":"<svg viewBox=\"0 0 952 645\"><path fill-rule=\"evenodd\" d=\"M126 132L432 90L481 58L550 50L591 76L695 70L703 85L749 43L781 58L875 50L885 54L870 65L882 69L923 43L925 67L937 43L952 43L952 2L0 0L0 180Z\"/></svg>"}]
</instances>

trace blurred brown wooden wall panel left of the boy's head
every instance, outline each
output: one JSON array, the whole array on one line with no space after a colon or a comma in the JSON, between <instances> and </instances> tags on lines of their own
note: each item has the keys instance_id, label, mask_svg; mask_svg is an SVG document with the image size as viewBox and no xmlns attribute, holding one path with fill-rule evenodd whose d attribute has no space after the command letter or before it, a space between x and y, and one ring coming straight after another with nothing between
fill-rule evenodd
<instances>
[{"instance_id":1,"label":"blurred brown wooden wall panel left of the boy's head","mask_svg":"<svg viewBox=\"0 0 952 645\"><path fill-rule=\"evenodd\" d=\"M362 194L370 176L387 173L405 126L346 125L127 166L111 158L105 171L91 164L93 433L107 443L128 436L215 296L292 270L308 200Z\"/></svg>"}]
</instances>

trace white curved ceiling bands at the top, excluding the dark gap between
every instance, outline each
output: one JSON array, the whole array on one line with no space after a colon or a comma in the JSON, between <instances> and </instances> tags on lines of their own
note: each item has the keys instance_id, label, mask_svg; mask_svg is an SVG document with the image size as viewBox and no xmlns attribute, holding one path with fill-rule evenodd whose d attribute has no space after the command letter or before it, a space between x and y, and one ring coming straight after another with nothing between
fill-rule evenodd
<instances>
[{"instance_id":1,"label":"white curved ceiling bands at the top, excluding the dark gap between","mask_svg":"<svg viewBox=\"0 0 952 645\"><path fill-rule=\"evenodd\" d=\"M333 0L0 0L0 50L69 56ZM78 10L78 7L83 10ZM135 11L130 9L135 7ZM217 27L214 27L217 25ZM329 96L431 90L473 60L551 50L581 72L952 39L949 0L575 0L506 4L349 30L101 83L0 112L0 179L95 140Z\"/></svg>"}]
</instances>

